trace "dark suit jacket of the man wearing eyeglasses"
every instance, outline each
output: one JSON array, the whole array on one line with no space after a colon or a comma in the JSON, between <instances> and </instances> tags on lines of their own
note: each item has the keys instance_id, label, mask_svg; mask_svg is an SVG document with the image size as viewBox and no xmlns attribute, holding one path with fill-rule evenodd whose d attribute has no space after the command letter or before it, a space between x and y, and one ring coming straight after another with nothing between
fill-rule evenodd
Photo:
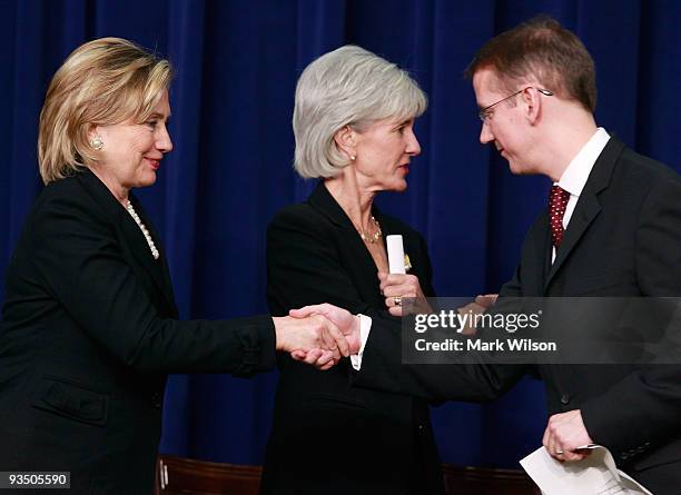
<instances>
[{"instance_id":1,"label":"dark suit jacket of the man wearing eyeglasses","mask_svg":"<svg viewBox=\"0 0 681 495\"><path fill-rule=\"evenodd\" d=\"M681 180L615 138L594 164L553 265L549 216L542 212L526 235L515 276L501 290L502 298L679 295ZM651 488L667 477L657 476L655 466L681 459L680 366L399 366L396 334L372 329L357 385L430 399L485 400L536 372L550 414L581 409L593 440ZM664 492L664 482L660 493L678 493L681 469L673 469L677 492Z\"/></svg>"}]
</instances>

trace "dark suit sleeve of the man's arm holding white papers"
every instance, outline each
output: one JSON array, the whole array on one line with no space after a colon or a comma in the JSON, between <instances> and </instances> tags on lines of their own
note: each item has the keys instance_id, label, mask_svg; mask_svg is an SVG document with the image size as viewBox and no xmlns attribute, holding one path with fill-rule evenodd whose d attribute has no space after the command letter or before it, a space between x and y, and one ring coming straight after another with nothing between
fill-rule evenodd
<instances>
[{"instance_id":1,"label":"dark suit sleeve of the man's arm holding white papers","mask_svg":"<svg viewBox=\"0 0 681 495\"><path fill-rule=\"evenodd\" d=\"M651 187L641 208L635 274L644 296L681 295L680 198L681 181L665 177ZM681 366L642 367L581 410L590 436L610 448L669 439L681 432Z\"/></svg>"}]
</instances>

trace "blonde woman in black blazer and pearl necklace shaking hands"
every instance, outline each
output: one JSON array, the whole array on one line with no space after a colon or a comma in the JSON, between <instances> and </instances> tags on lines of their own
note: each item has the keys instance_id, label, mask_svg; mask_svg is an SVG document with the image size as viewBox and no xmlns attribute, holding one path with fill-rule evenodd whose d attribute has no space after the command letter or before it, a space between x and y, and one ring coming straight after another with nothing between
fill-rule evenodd
<instances>
[{"instance_id":1,"label":"blonde woman in black blazer and pearl necklace shaking hands","mask_svg":"<svg viewBox=\"0 0 681 495\"><path fill-rule=\"evenodd\" d=\"M167 373L251 375L313 343L348 352L322 317L177 320L131 192L172 149L170 79L168 61L129 41L90 41L40 115L47 186L10 261L0 331L0 466L69 472L69 493L151 493Z\"/></svg>"}]
</instances>

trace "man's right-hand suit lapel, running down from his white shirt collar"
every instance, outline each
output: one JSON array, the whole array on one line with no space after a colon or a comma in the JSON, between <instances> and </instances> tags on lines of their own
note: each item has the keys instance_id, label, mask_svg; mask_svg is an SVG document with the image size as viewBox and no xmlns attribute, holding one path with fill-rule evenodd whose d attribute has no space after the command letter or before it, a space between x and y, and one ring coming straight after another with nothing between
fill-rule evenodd
<instances>
[{"instance_id":1,"label":"man's right-hand suit lapel, running down from his white shirt collar","mask_svg":"<svg viewBox=\"0 0 681 495\"><path fill-rule=\"evenodd\" d=\"M582 238L589 226L599 216L601 211L601 202L599 201L599 194L608 188L610 178L614 166L624 149L624 143L619 139L612 137L603 148L603 151L596 159L586 185L582 190L580 199L574 208L568 229L563 236L561 247L556 251L555 261L549 271L546 281L544 284L544 290L549 288L549 285L554 279L565 260L574 251L579 240ZM547 224L546 224L547 225ZM549 254L551 257L551 254ZM551 258L550 258L551 259Z\"/></svg>"}]
</instances>

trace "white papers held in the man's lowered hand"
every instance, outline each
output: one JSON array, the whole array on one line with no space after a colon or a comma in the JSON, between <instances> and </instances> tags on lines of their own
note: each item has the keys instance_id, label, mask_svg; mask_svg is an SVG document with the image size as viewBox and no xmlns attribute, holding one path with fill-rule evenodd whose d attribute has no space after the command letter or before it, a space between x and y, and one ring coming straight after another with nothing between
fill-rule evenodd
<instances>
[{"instance_id":1,"label":"white papers held in the man's lowered hand","mask_svg":"<svg viewBox=\"0 0 681 495\"><path fill-rule=\"evenodd\" d=\"M520 462L545 495L653 495L615 466L612 454L590 445L582 461L561 463L541 447Z\"/></svg>"}]
</instances>

